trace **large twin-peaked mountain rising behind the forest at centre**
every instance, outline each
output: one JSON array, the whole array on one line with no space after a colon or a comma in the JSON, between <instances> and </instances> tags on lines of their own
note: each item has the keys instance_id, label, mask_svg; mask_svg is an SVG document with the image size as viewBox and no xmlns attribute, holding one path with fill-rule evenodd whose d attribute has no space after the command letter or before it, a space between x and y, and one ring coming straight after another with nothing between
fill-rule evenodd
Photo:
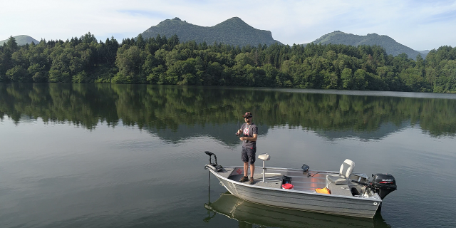
<instances>
[{"instance_id":1,"label":"large twin-peaked mountain rising behind the forest at centre","mask_svg":"<svg viewBox=\"0 0 456 228\"><path fill-rule=\"evenodd\" d=\"M203 41L206 41L207 44L220 42L234 46L247 46L248 44L258 46L259 43L266 43L268 46L273 43L281 44L272 38L271 31L259 30L249 26L238 17L228 19L212 27L197 26L187 23L187 21L181 21L176 17L172 20L162 21L141 34L143 38L156 37L159 34L169 38L176 34L181 42L195 40L197 43Z\"/></svg>"}]
</instances>

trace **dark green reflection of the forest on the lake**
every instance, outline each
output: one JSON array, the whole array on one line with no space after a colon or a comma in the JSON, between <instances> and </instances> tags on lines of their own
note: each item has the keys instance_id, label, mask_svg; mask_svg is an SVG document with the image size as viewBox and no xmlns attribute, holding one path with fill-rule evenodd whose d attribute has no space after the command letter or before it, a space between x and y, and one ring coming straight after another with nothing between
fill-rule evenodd
<instances>
[{"instance_id":1,"label":"dark green reflection of the forest on the lake","mask_svg":"<svg viewBox=\"0 0 456 228\"><path fill-rule=\"evenodd\" d=\"M0 84L0 115L26 115L93 129L99 122L176 130L179 125L237 123L242 112L257 124L309 130L373 132L409 121L430 135L455 135L456 100L368 95L284 93L249 88L101 84ZM242 120L241 120L242 121Z\"/></svg>"}]
</instances>

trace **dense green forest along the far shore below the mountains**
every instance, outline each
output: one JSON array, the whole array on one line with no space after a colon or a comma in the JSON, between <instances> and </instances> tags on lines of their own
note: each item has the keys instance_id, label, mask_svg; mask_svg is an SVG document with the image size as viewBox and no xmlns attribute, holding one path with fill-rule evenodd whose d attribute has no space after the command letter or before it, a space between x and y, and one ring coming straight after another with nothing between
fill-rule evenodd
<instances>
[{"instance_id":1,"label":"dense green forest along the far shore below the mountains","mask_svg":"<svg viewBox=\"0 0 456 228\"><path fill-rule=\"evenodd\" d=\"M86 33L67 41L0 46L0 82L150 83L456 93L456 48L423 59L380 46L230 46L177 36L115 38Z\"/></svg>"}]
</instances>

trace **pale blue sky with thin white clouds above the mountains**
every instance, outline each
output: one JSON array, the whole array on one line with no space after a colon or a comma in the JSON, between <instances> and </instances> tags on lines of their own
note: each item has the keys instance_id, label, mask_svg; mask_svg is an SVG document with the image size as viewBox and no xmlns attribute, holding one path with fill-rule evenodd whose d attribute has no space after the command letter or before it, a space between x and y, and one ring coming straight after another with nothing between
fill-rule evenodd
<instances>
[{"instance_id":1,"label":"pale blue sky with thin white clouds above the mountains","mask_svg":"<svg viewBox=\"0 0 456 228\"><path fill-rule=\"evenodd\" d=\"M98 40L138 36L165 19L214 26L237 16L274 39L309 43L332 31L378 33L418 51L456 46L455 1L0 1L0 40L62 39L90 31Z\"/></svg>"}]
</instances>

